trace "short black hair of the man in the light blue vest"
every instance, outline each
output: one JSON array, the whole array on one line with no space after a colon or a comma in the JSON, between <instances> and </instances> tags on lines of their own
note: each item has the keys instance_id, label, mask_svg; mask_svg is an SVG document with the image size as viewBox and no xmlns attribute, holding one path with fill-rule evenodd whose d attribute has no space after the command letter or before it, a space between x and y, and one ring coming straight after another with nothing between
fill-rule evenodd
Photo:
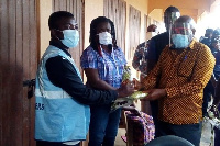
<instances>
[{"instance_id":1,"label":"short black hair of the man in the light blue vest","mask_svg":"<svg viewBox=\"0 0 220 146\"><path fill-rule=\"evenodd\" d=\"M48 18L48 27L57 29L57 22L61 21L62 18L74 18L74 14L67 11L57 11L50 15Z\"/></svg>"}]
</instances>

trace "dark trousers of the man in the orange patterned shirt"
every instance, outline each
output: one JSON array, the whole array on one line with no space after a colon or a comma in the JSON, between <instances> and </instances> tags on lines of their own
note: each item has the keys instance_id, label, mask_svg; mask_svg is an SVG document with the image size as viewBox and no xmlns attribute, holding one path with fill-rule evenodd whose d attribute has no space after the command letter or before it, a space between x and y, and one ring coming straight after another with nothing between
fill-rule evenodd
<instances>
[{"instance_id":1,"label":"dark trousers of the man in the orange patterned shirt","mask_svg":"<svg viewBox=\"0 0 220 146\"><path fill-rule=\"evenodd\" d=\"M201 138L201 122L198 124L176 125L166 122L158 122L160 136L175 135L199 146Z\"/></svg>"}]
</instances>

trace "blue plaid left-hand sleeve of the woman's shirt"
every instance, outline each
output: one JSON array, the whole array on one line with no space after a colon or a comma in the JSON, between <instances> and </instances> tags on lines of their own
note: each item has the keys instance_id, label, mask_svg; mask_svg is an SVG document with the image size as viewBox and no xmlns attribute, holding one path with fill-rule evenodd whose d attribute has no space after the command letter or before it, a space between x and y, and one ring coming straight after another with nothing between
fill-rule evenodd
<instances>
[{"instance_id":1,"label":"blue plaid left-hand sleeve of the woman's shirt","mask_svg":"<svg viewBox=\"0 0 220 146\"><path fill-rule=\"evenodd\" d=\"M88 47L82 52L82 55L80 57L80 66L82 69L98 68L97 53L91 47Z\"/></svg>"}]
</instances>

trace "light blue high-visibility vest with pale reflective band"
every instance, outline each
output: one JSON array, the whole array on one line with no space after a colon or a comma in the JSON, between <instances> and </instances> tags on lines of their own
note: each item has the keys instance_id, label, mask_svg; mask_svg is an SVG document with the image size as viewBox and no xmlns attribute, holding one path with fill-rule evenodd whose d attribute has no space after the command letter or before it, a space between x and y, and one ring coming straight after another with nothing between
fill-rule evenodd
<instances>
[{"instance_id":1,"label":"light blue high-visibility vest with pale reflective band","mask_svg":"<svg viewBox=\"0 0 220 146\"><path fill-rule=\"evenodd\" d=\"M88 105L77 102L74 97L50 81L45 63L55 56L62 56L69 60L80 77L73 58L62 49L48 46L41 59L36 75L35 139L47 142L86 139L90 109Z\"/></svg>"}]
</instances>

